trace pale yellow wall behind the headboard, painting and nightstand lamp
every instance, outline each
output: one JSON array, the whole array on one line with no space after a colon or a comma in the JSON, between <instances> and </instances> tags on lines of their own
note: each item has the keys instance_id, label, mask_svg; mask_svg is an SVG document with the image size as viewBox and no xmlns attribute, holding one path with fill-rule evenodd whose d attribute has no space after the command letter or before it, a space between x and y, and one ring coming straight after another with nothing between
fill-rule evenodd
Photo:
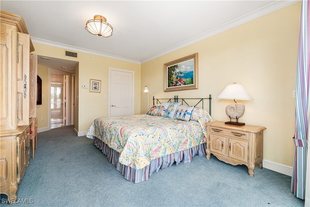
<instances>
[{"instance_id":1,"label":"pale yellow wall behind the headboard, painting and nightstand lamp","mask_svg":"<svg viewBox=\"0 0 310 207\"><path fill-rule=\"evenodd\" d=\"M141 87L151 98L208 97L212 117L228 121L225 108L233 100L217 99L230 83L242 84L254 101L246 105L240 122L267 127L263 159L292 166L294 144L295 73L298 49L300 2L179 49L141 65ZM165 63L199 53L199 89L163 92ZM147 111L147 96L141 92L141 112Z\"/></svg>"}]
</instances>

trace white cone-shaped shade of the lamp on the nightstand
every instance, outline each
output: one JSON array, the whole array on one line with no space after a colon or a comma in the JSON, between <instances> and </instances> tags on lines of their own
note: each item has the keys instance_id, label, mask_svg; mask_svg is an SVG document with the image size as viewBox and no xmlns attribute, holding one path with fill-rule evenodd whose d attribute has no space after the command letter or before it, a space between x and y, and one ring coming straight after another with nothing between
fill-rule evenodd
<instances>
[{"instance_id":1,"label":"white cone-shaped shade of the lamp on the nightstand","mask_svg":"<svg viewBox=\"0 0 310 207\"><path fill-rule=\"evenodd\" d=\"M236 100L254 100L242 85L233 83L226 86L226 88L217 96L219 99L236 99Z\"/></svg>"}]
</instances>

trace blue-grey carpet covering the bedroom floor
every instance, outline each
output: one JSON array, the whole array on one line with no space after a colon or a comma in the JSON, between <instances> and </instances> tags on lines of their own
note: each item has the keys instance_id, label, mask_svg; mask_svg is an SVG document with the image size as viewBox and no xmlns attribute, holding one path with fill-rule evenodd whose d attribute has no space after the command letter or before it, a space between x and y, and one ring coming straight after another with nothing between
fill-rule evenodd
<instances>
[{"instance_id":1,"label":"blue-grey carpet covering the bedroom floor","mask_svg":"<svg viewBox=\"0 0 310 207\"><path fill-rule=\"evenodd\" d=\"M11 207L210 206L303 207L290 191L291 177L244 165L233 166L195 156L192 163L172 165L134 184L73 127L38 134L35 158L18 186ZM1 207L6 195L1 194ZM26 203L26 204L23 204Z\"/></svg>"}]
</instances>

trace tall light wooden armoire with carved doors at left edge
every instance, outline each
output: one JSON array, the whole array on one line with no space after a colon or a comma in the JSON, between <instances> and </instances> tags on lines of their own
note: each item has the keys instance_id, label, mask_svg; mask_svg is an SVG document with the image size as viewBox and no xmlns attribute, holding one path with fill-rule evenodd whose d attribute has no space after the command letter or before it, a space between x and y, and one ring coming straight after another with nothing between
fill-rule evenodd
<instances>
[{"instance_id":1,"label":"tall light wooden armoire with carved doors at left edge","mask_svg":"<svg viewBox=\"0 0 310 207\"><path fill-rule=\"evenodd\" d=\"M34 48L22 16L0 11L0 22L0 193L15 203L30 157L30 52Z\"/></svg>"}]
</instances>

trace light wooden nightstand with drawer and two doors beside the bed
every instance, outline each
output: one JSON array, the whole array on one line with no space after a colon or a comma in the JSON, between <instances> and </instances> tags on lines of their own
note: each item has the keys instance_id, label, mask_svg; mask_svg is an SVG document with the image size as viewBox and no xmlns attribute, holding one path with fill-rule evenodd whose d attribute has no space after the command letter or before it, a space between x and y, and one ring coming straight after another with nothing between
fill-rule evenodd
<instances>
[{"instance_id":1,"label":"light wooden nightstand with drawer and two doors beside the bed","mask_svg":"<svg viewBox=\"0 0 310 207\"><path fill-rule=\"evenodd\" d=\"M232 165L248 166L248 174L254 176L254 168L263 168L263 130L266 127L234 126L214 121L207 124L206 158L211 154Z\"/></svg>"}]
</instances>

